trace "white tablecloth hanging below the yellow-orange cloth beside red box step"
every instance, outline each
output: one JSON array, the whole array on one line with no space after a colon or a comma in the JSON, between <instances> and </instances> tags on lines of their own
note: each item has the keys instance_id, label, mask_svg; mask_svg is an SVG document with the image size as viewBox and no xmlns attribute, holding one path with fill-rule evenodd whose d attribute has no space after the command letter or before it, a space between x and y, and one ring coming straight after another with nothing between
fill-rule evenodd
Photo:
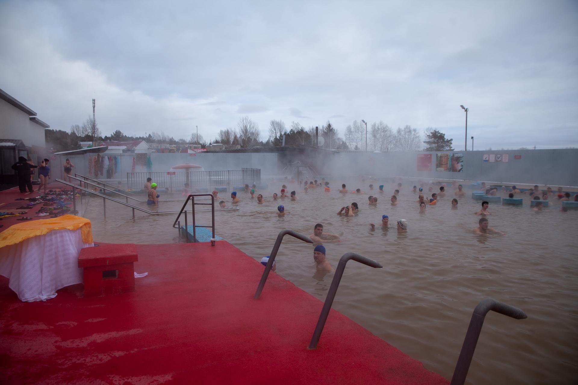
<instances>
[{"instance_id":1,"label":"white tablecloth hanging below the yellow-orange cloth beside red box step","mask_svg":"<svg viewBox=\"0 0 578 385\"><path fill-rule=\"evenodd\" d=\"M82 283L80 249L94 246L82 241L80 229L53 230L0 248L0 274L22 301L46 301L56 290Z\"/></svg>"}]
</instances>

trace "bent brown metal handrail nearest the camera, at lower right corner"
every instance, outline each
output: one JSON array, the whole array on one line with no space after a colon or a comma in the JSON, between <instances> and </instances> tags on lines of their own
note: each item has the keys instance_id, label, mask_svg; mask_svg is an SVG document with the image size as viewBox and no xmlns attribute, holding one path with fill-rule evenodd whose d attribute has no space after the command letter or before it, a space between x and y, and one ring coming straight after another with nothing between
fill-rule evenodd
<instances>
[{"instance_id":1,"label":"bent brown metal handrail nearest the camera, at lower right corner","mask_svg":"<svg viewBox=\"0 0 578 385\"><path fill-rule=\"evenodd\" d=\"M477 339L480 337L481 327L484 325L484 319L489 311L494 311L508 317L518 320L528 318L526 313L514 306L506 305L502 302L486 298L480 301L473 311L472 319L464 338L464 345L455 364L454 375L451 377L450 385L462 385L465 383L468 375L469 366L472 363L473 352L476 350Z\"/></svg>"}]
</instances>

